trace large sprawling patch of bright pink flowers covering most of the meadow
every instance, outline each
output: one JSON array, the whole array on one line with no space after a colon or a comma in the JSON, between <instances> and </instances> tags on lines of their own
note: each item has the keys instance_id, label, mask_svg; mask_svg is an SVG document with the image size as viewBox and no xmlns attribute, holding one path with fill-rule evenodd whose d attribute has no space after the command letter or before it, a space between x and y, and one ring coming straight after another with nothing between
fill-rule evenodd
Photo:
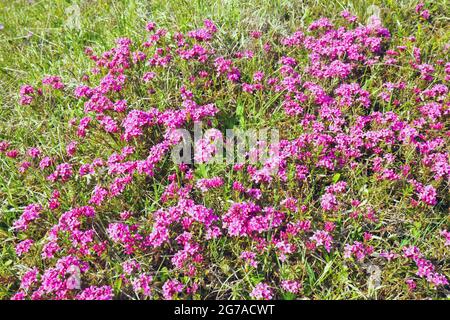
<instances>
[{"instance_id":1,"label":"large sprawling patch of bright pink flowers covering most of the meadow","mask_svg":"<svg viewBox=\"0 0 450 320\"><path fill-rule=\"evenodd\" d=\"M41 255L12 298L112 299L118 279L120 297L191 298L220 291L205 279L228 277L231 267L233 277L259 279L242 283L247 297L269 300L308 292L302 281L323 272L321 256L354 259L355 268L413 261L418 277L448 285L417 247L393 243L397 226L388 224L400 205L408 219L432 216L430 226L448 213L449 65L425 60L411 40L393 46L376 18L363 25L341 15L279 44L253 31L248 48L227 54L210 20L173 34L150 22L142 43L87 48L93 68L73 92L58 76L45 77L43 89L24 85L20 104L36 112L41 96L81 108L62 152L0 142L5 163L33 181L13 223L17 259ZM280 127L280 141L252 146L233 167L215 162L227 121L251 123L252 112ZM197 164L173 163L183 138L175 129L198 122L220 130L195 141ZM399 240L414 236L408 219ZM440 235L448 246L449 232ZM417 289L413 279L407 285Z\"/></svg>"}]
</instances>

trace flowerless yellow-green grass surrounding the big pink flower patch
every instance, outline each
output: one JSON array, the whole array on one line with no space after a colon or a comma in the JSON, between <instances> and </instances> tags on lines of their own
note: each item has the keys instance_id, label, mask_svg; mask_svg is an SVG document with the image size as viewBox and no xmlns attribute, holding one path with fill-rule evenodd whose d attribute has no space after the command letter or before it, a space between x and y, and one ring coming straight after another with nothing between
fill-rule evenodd
<instances>
[{"instance_id":1,"label":"flowerless yellow-green grass surrounding the big pink flower patch","mask_svg":"<svg viewBox=\"0 0 450 320\"><path fill-rule=\"evenodd\" d=\"M74 8L74 3L80 9L78 22L66 11L70 7ZM63 134L64 128L69 119L82 114L82 105L73 104L63 97L58 103L48 101L43 112L36 114L18 105L20 86L37 84L43 75L60 75L69 87L74 87L91 67L83 54L86 46L101 52L111 48L118 37L126 36L141 41L145 36L143 30L147 21L155 21L171 32L186 32L199 27L205 18L210 18L219 27L215 41L220 50L227 53L246 47L250 30L267 30L264 39L270 41L307 26L318 17L337 17L343 9L349 9L360 21L366 21L371 14L369 6L376 5L381 10L385 27L394 35L394 44L400 45L404 37L415 35L417 46L423 48L425 61L445 59L443 47L450 43L450 6L446 0L429 1L427 4L432 11L431 25L422 25L412 16L416 1L2 1L0 23L4 28L0 30L0 140L10 140L17 146L38 144L46 152L64 154L67 142L67 137ZM258 66L253 68L257 70ZM367 87L379 87L380 79L384 79L384 76L380 76L383 72L385 69L380 66L366 81ZM386 75L389 76L391 75ZM408 76L405 72L403 80L408 81ZM218 102L223 104L224 109L228 106L225 98L226 95L224 100L219 99ZM230 122L230 126L236 122L244 127L267 126L270 121L278 120L266 117L272 108L271 101L242 98L236 104L246 107L241 111L240 117L238 114L239 118L224 119L225 122ZM228 111L231 114L235 110ZM100 149L92 150L93 155L100 155L101 152ZM392 221L394 231L389 239L384 240L403 245L426 243L423 248L425 253L432 253L435 260L440 261L442 270L449 274L448 249L445 251L445 248L437 245L441 240L436 239L438 230L449 224L445 204L444 207L411 216L407 206L411 192L405 191L404 197L392 204L389 201L390 195L384 193L386 186L370 177L363 181L360 176L357 172L349 172L347 181L376 210L388 216L385 221ZM42 197L43 190L34 187L35 182L23 179L15 168L6 163L4 158L0 158L0 299L10 297L17 288L17 274L25 268L17 263L10 226L20 215L24 205ZM148 197L143 200L145 203L142 206L147 212L160 206L158 195L162 192L162 185L155 185L154 189L148 190ZM314 189L306 190L306 198L314 198L316 192ZM67 198L72 195L69 194ZM212 246L214 245L223 244L215 243ZM215 249L211 250L214 252ZM30 259L37 260L39 257L36 255ZM414 295L404 294L405 285L396 276L398 273L402 274L404 267L394 264L384 270L383 286L373 291L364 283L367 280L365 271L354 270L353 266L342 263L339 253L316 256L314 260L304 256L293 266L302 275L305 296L313 299L415 298ZM222 282L222 285L217 292L211 293L211 297L226 298L230 296L229 292L232 298L245 297L248 287L246 282L255 283L257 279L248 270L238 268L238 265L222 263L220 256L215 257L211 274L205 277ZM279 272L283 273L284 270L281 268ZM426 292L418 293L418 298L427 295L433 298L444 296L442 293L433 295Z\"/></svg>"}]
</instances>

